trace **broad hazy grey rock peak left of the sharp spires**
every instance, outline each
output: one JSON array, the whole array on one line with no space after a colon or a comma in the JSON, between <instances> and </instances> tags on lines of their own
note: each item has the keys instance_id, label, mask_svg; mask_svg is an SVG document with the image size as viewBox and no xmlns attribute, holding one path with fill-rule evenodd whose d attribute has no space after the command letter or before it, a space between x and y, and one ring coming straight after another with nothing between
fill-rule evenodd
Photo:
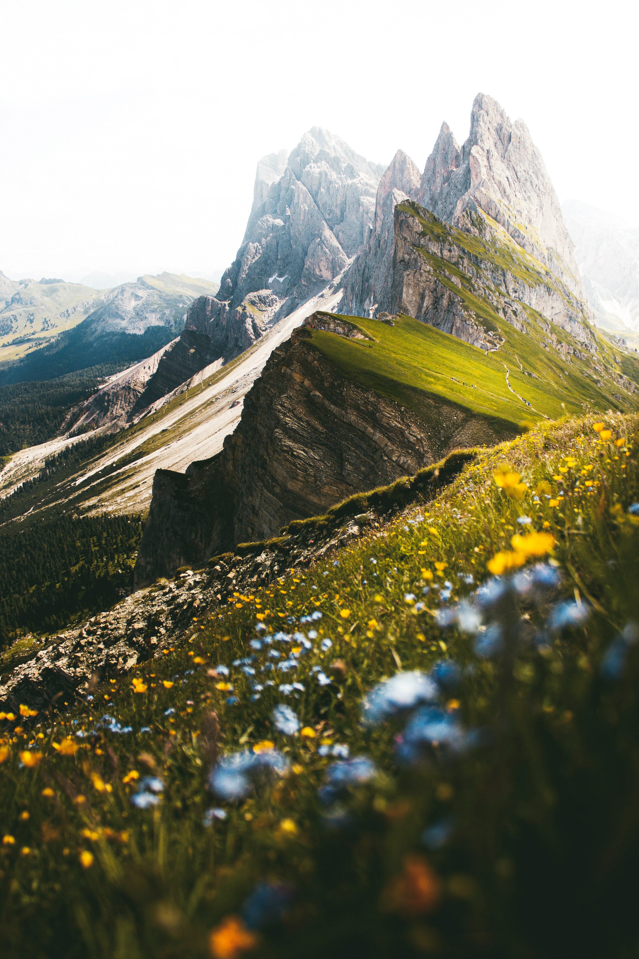
<instances>
[{"instance_id":1,"label":"broad hazy grey rock peak left of the sharp spires","mask_svg":"<svg viewBox=\"0 0 639 959\"><path fill-rule=\"evenodd\" d=\"M253 207L215 296L200 298L139 408L204 366L228 363L346 269L373 222L383 166L313 127L285 160L262 157Z\"/></svg>"}]
</instances>

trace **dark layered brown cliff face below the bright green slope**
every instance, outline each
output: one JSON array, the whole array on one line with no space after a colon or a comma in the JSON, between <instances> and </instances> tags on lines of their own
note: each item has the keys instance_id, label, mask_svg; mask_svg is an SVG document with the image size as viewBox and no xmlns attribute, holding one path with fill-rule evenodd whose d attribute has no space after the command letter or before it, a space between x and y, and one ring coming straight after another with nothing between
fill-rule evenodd
<instances>
[{"instance_id":1,"label":"dark layered brown cliff face below the bright green slope","mask_svg":"<svg viewBox=\"0 0 639 959\"><path fill-rule=\"evenodd\" d=\"M156 472L137 584L268 538L449 450L501 438L454 403L424 393L416 411L347 379L309 342L308 327L322 322L308 317L271 354L220 454L186 474Z\"/></svg>"}]
</instances>

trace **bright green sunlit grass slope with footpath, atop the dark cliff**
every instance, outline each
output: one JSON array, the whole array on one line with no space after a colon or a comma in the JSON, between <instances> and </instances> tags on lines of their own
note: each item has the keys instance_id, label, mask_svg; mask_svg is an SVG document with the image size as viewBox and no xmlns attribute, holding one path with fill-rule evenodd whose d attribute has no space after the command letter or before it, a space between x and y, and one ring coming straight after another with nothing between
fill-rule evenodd
<instances>
[{"instance_id":1,"label":"bright green sunlit grass slope with footpath, atop the dark cliff","mask_svg":"<svg viewBox=\"0 0 639 959\"><path fill-rule=\"evenodd\" d=\"M361 316L345 317L374 340L346 339L313 330L311 342L343 375L416 409L420 396L426 393L518 425L543 417L556 419L564 410L577 413L584 409L639 407L635 394L620 390L609 379L602 380L603 388L599 388L591 376L585 377L583 370L591 372L588 363L577 358L565 363L555 351L544 350L536 324L531 323L529 333L523 334L493 316L505 342L488 356L484 350L410 316L399 316L394 327ZM602 350L609 352L604 339L599 341ZM630 357L625 360L628 366L634 363ZM535 373L536 378L526 376L521 367ZM515 393L506 382L507 369ZM623 393L621 401L614 398L614 392Z\"/></svg>"}]
</instances>

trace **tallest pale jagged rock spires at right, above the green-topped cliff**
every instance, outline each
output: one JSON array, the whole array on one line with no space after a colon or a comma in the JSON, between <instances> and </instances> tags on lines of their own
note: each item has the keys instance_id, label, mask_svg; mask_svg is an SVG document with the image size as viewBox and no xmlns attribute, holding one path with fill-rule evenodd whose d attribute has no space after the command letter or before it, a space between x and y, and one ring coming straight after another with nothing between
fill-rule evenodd
<instances>
[{"instance_id":1,"label":"tallest pale jagged rock spires at right, above the green-topped cliff","mask_svg":"<svg viewBox=\"0 0 639 959\"><path fill-rule=\"evenodd\" d=\"M442 125L426 160L421 194L426 209L455 226L467 210L483 210L582 296L574 245L541 153L523 120L513 123L491 97L475 97L461 148Z\"/></svg>"}]
</instances>

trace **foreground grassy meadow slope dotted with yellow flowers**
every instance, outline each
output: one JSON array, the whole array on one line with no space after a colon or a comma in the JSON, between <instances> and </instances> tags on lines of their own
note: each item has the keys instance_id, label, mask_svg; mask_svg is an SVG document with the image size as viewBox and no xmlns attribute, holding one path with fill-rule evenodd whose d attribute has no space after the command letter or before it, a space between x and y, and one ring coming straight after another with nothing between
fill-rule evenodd
<instances>
[{"instance_id":1,"label":"foreground grassy meadow slope dotted with yellow flowers","mask_svg":"<svg viewBox=\"0 0 639 959\"><path fill-rule=\"evenodd\" d=\"M639 526L628 513L639 499L639 419L605 420L609 441L592 431L592 418L572 418L480 452L436 500L418 498L311 571L194 620L184 647L136 671L142 691L122 675L70 714L5 720L3 954L239 956L232 929L243 927L229 917L242 908L260 927L243 929L249 957L634 954L637 647L616 682L600 664L639 618ZM519 500L493 479L506 462L527 484ZM532 520L524 528L556 540L562 583L553 600L578 596L590 616L543 643L482 658L437 613L490 575L487 563L511 551L523 515ZM313 611L321 619L301 621ZM548 617L543 604L524 602L519 612L527 619L517 629ZM253 648L260 622L269 633L308 636L306 653L293 641L294 671L262 668L291 646ZM274 648L279 659L268 655ZM435 747L401 765L398 720L362 726L362 697L400 669L441 659L464 669L445 714L483 730L483 745L447 759ZM230 675L210 674L220 663ZM318 669L330 683L318 681ZM293 681L304 689L280 689ZM281 703L308 735L277 731L271 713ZM132 732L74 735L104 712ZM267 749L264 740L283 752L287 774L239 803L216 800L207 785L216 754ZM54 747L63 741L68 755ZM323 753L335 744L377 764L372 779L344 790L338 809L317 792L335 761ZM21 764L21 752L42 758ZM164 784L161 801L137 809L130 797L150 773ZM225 818L205 826L212 807ZM424 828L442 823L453 824L447 841L424 845ZM242 903L259 882L271 883L271 905L265 922L253 923L255 898L253 911Z\"/></svg>"}]
</instances>

